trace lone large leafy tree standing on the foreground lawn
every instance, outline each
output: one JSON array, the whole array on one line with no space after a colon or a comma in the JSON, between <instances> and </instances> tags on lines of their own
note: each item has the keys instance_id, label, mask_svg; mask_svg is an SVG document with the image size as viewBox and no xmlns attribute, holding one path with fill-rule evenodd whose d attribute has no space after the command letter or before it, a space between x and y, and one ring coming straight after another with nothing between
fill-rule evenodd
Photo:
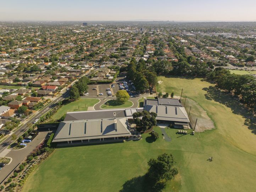
<instances>
[{"instance_id":1,"label":"lone large leafy tree standing on the foreground lawn","mask_svg":"<svg viewBox=\"0 0 256 192\"><path fill-rule=\"evenodd\" d=\"M175 161L172 154L163 153L156 159L150 159L148 165L147 175L154 182L168 181L178 174L178 169L174 167Z\"/></svg>"}]
</instances>

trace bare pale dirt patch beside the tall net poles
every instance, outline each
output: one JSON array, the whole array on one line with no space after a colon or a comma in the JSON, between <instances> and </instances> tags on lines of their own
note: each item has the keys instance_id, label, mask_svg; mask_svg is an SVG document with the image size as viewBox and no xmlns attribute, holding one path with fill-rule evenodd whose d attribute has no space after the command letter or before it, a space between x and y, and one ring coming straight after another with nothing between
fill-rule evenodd
<instances>
[{"instance_id":1,"label":"bare pale dirt patch beside the tall net poles","mask_svg":"<svg viewBox=\"0 0 256 192\"><path fill-rule=\"evenodd\" d=\"M184 105L184 102L185 102L185 98L182 98L183 105ZM210 130L215 128L213 121L207 115L206 111L197 102L195 102L190 98L187 98L185 108L188 114L189 114L190 106L192 106L190 115L189 115L191 124L193 126L192 128L194 128L196 118L197 118L197 123L195 128L196 132L203 132L205 130Z\"/></svg>"}]
</instances>

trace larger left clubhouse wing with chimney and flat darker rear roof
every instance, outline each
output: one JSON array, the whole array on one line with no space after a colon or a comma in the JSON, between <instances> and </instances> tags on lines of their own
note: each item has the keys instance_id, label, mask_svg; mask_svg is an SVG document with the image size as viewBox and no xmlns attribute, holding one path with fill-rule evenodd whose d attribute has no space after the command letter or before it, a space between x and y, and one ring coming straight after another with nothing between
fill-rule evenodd
<instances>
[{"instance_id":1,"label":"larger left clubhouse wing with chimney and flat darker rear roof","mask_svg":"<svg viewBox=\"0 0 256 192\"><path fill-rule=\"evenodd\" d=\"M68 112L52 142L90 143L124 139L130 133L127 120L143 108Z\"/></svg>"}]
</instances>

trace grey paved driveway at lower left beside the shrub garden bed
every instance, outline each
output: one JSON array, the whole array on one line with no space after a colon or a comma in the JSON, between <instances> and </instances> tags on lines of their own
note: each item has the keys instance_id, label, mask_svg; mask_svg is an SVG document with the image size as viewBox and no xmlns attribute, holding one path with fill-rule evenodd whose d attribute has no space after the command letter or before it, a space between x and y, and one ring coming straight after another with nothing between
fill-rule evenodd
<instances>
[{"instance_id":1,"label":"grey paved driveway at lower left beside the shrub garden bed","mask_svg":"<svg viewBox=\"0 0 256 192\"><path fill-rule=\"evenodd\" d=\"M38 146L48 136L49 131L39 132L35 139L31 143L27 143L27 147L20 150L5 149L0 155L4 157L11 157L12 162L9 165L5 165L0 170L0 183L9 175L15 167L25 159L33 149ZM6 153L8 152L8 153Z\"/></svg>"}]
</instances>

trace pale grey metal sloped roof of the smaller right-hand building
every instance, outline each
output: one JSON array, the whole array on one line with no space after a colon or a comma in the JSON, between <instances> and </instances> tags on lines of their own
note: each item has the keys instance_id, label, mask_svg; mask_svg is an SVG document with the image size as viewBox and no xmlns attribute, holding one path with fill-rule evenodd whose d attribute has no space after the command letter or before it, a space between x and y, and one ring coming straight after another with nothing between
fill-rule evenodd
<instances>
[{"instance_id":1,"label":"pale grey metal sloped roof of the smaller right-hand building","mask_svg":"<svg viewBox=\"0 0 256 192\"><path fill-rule=\"evenodd\" d=\"M144 109L149 112L157 113L156 120L189 122L188 115L184 107L145 105Z\"/></svg>"}]
</instances>

